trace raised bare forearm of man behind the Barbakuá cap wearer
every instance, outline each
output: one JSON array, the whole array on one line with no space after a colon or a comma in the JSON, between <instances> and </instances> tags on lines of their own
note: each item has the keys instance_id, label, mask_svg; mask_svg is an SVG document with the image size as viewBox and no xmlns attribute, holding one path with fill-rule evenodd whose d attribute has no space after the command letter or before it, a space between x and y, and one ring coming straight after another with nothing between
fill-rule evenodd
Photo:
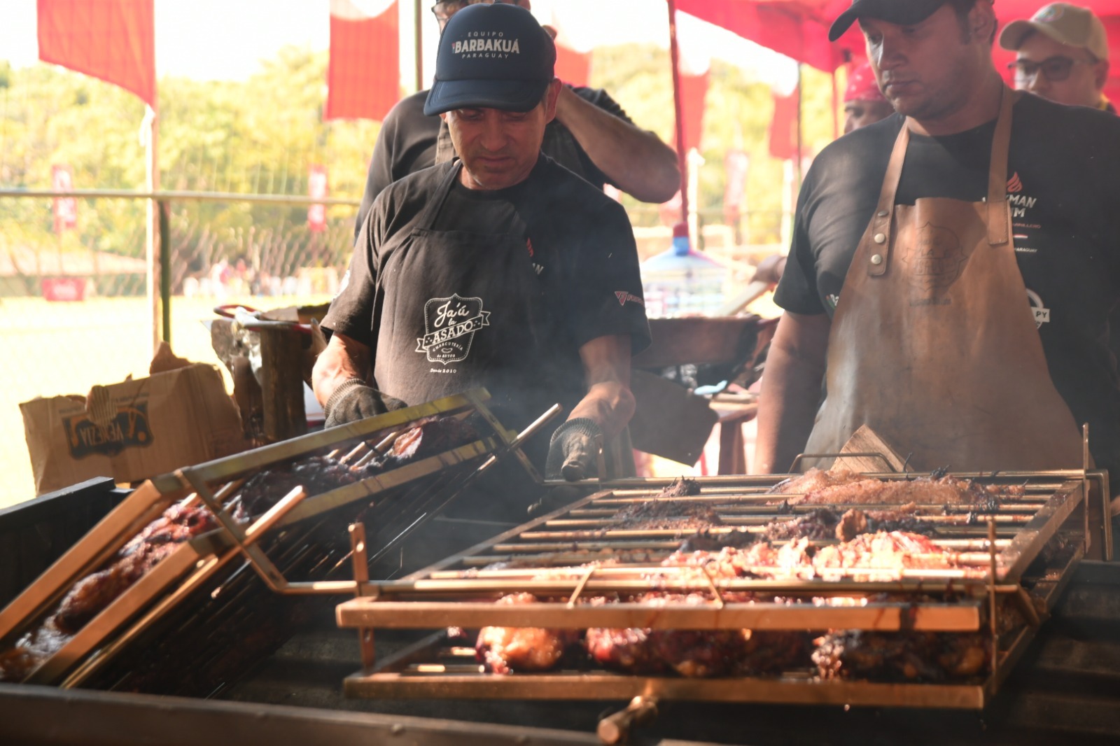
<instances>
[{"instance_id":1,"label":"raised bare forearm of man behind the Barbaku\u00e1 cap wearer","mask_svg":"<svg viewBox=\"0 0 1120 746\"><path fill-rule=\"evenodd\" d=\"M676 153L653 132L580 99L567 86L560 90L557 119L571 130L591 162L626 194L662 203L680 188Z\"/></svg>"}]
</instances>

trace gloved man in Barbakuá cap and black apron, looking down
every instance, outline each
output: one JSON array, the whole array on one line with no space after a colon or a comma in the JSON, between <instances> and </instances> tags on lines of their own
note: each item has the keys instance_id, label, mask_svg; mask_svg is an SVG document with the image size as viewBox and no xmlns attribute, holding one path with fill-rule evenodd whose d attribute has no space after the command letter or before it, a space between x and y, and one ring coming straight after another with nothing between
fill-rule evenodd
<instances>
[{"instance_id":1,"label":"gloved man in Barbaku\u00e1 cap and black apron, looking down","mask_svg":"<svg viewBox=\"0 0 1120 746\"><path fill-rule=\"evenodd\" d=\"M631 353L650 341L637 251L622 206L541 153L554 62L516 6L451 18L424 111L459 160L374 201L324 319L314 383L328 426L477 386L507 427L560 402L567 421L530 456L575 479L628 422Z\"/></svg>"}]
</instances>

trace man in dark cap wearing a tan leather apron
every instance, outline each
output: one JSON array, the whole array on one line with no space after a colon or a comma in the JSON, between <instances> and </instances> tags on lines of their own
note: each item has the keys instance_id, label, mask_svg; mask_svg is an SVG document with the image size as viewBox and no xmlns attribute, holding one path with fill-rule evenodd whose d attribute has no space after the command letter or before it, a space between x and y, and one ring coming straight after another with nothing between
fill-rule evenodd
<instances>
[{"instance_id":1,"label":"man in dark cap wearing a tan leather apron","mask_svg":"<svg viewBox=\"0 0 1120 746\"><path fill-rule=\"evenodd\" d=\"M1084 422L1120 468L1120 121L1010 91L990 0L855 0L830 38L855 22L897 113L802 186L758 469L865 425L916 470L1079 468Z\"/></svg>"}]
</instances>

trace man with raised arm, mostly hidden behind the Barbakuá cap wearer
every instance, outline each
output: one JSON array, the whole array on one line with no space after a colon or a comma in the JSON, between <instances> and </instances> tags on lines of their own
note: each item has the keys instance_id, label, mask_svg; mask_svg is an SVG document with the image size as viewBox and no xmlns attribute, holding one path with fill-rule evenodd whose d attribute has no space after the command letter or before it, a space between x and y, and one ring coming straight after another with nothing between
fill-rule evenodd
<instances>
[{"instance_id":1,"label":"man with raised arm, mostly hidden behind the Barbaku\u00e1 cap wearer","mask_svg":"<svg viewBox=\"0 0 1120 746\"><path fill-rule=\"evenodd\" d=\"M442 0L432 7L440 31L459 10L495 0ZM497 0L530 10L530 0ZM455 158L455 147L439 116L423 113L427 91L399 101L385 115L370 159L365 192L354 223L357 239L370 206L396 179ZM636 199L663 203L681 185L676 153L656 134L642 130L601 88L563 85L556 119L544 129L541 149L558 164L598 188L612 184Z\"/></svg>"}]
</instances>

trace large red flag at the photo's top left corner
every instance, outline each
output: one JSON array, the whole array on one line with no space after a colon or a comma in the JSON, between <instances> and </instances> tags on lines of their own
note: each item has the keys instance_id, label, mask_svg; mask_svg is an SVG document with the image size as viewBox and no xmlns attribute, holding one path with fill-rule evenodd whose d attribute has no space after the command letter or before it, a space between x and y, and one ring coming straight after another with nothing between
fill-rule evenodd
<instances>
[{"instance_id":1,"label":"large red flag at the photo's top left corner","mask_svg":"<svg viewBox=\"0 0 1120 746\"><path fill-rule=\"evenodd\" d=\"M119 85L156 109L153 0L38 0L39 59Z\"/></svg>"}]
</instances>

